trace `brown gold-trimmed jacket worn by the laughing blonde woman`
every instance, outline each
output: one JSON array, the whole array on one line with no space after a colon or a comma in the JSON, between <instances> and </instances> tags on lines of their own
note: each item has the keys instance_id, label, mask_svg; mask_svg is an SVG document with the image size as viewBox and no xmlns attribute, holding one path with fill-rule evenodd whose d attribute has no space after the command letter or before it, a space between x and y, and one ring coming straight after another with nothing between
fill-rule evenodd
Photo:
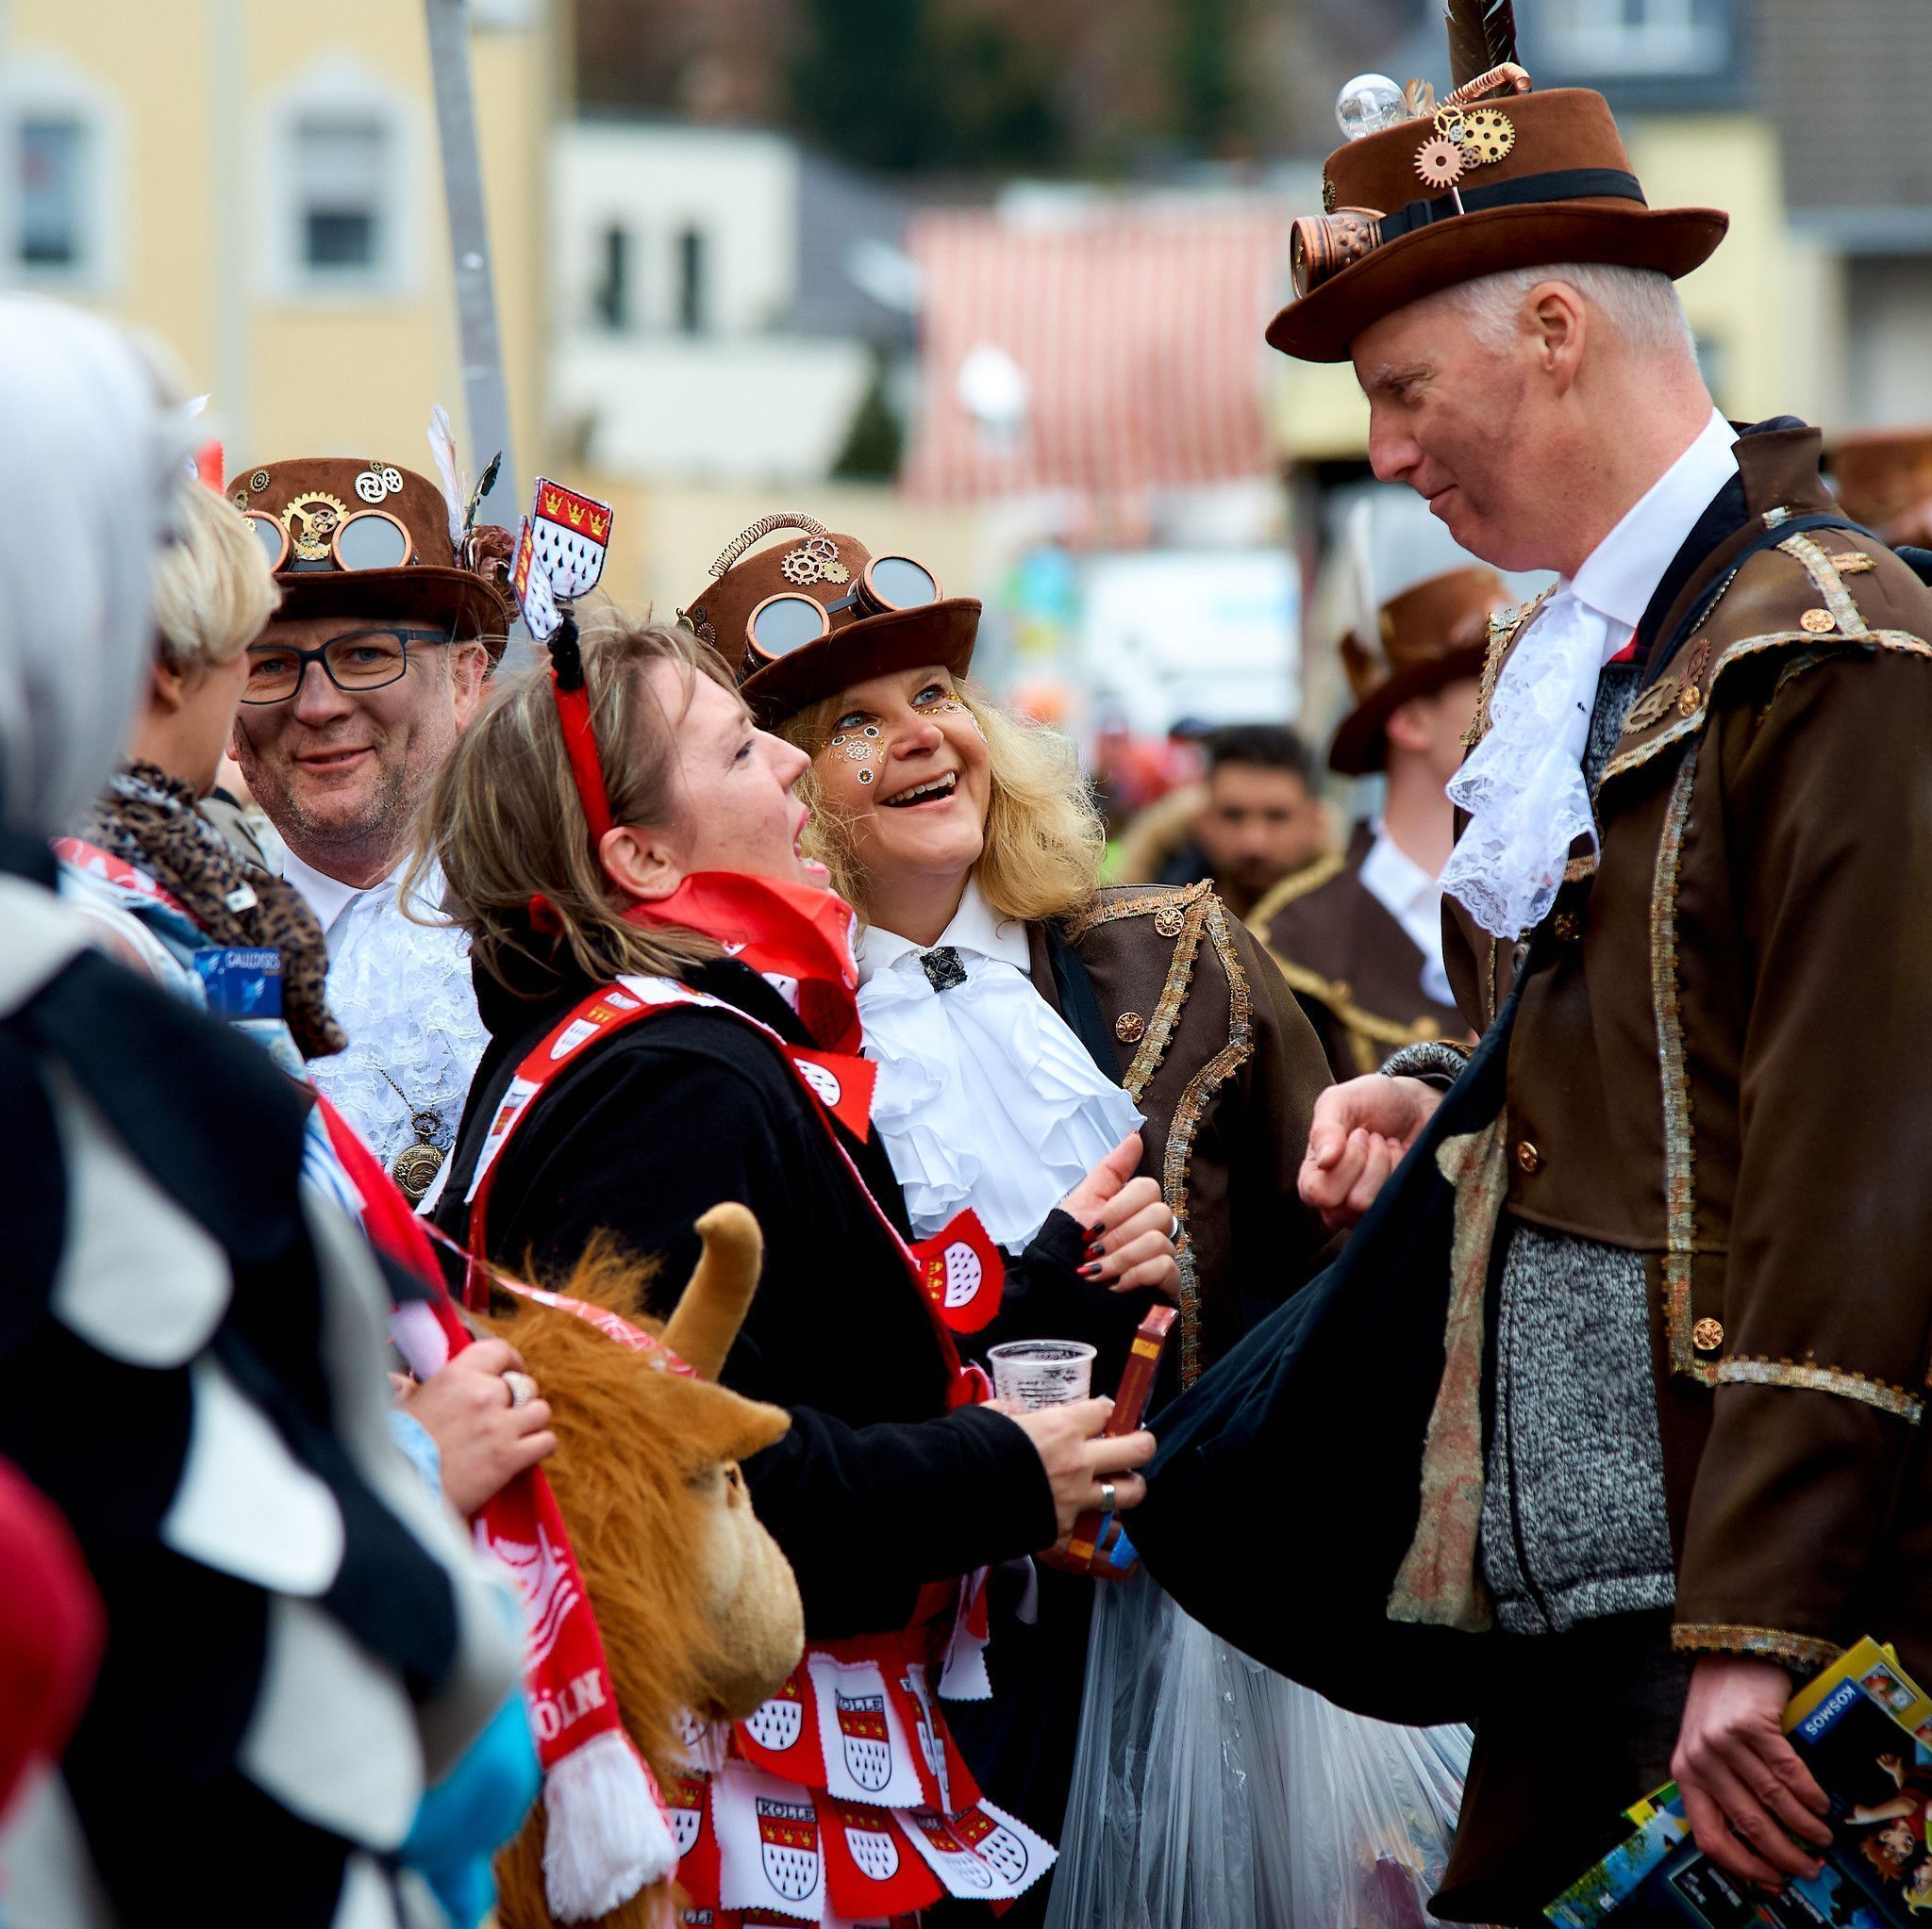
<instances>
[{"instance_id":1,"label":"brown gold-trimmed jacket worn by the laughing blonde woman","mask_svg":"<svg viewBox=\"0 0 1932 1929\"><path fill-rule=\"evenodd\" d=\"M1180 1218L1190 1383L1308 1278L1327 1242L1294 1188L1327 1064L1211 884L1101 890L1063 931L1113 1031L1121 1083L1148 1116L1140 1170ZM1034 985L1061 1012L1045 931L1028 938Z\"/></svg>"}]
</instances>

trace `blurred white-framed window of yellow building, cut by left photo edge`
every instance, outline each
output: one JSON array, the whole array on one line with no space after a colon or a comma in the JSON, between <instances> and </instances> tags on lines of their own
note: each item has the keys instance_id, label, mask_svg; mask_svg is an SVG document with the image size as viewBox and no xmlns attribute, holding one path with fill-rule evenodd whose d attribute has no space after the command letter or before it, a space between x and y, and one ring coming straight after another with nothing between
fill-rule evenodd
<instances>
[{"instance_id":1,"label":"blurred white-framed window of yellow building, cut by left photo edge","mask_svg":"<svg viewBox=\"0 0 1932 1929\"><path fill-rule=\"evenodd\" d=\"M97 292L120 257L118 110L99 83L29 54L0 97L0 278Z\"/></svg>"}]
</instances>

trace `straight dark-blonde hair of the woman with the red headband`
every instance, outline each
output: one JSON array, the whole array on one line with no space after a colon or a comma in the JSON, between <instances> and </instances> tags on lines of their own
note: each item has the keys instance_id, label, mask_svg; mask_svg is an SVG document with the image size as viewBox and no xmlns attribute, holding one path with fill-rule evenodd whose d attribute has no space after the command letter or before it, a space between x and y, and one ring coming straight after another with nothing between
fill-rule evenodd
<instances>
[{"instance_id":1,"label":"straight dark-blonde hair of the woman with the red headband","mask_svg":"<svg viewBox=\"0 0 1932 1929\"><path fill-rule=\"evenodd\" d=\"M667 825L678 801L676 716L659 703L647 672L676 664L686 703L699 676L724 689L732 682L690 631L616 610L582 620L582 651L611 821ZM696 931L626 923L626 902L605 877L583 821L547 660L508 680L458 736L417 817L404 904L431 865L442 867L442 911L469 933L469 956L529 996L541 991L527 985L527 971L518 983L514 958L554 971L533 944L539 896L556 921L556 942L587 977L676 977L719 956Z\"/></svg>"}]
</instances>

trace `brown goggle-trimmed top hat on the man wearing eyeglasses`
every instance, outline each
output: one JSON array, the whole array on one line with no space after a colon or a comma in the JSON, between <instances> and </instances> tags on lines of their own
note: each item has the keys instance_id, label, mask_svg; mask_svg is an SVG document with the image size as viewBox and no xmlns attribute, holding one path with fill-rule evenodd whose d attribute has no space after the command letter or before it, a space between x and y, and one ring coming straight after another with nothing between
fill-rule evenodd
<instances>
[{"instance_id":1,"label":"brown goggle-trimmed top hat on the man wearing eyeglasses","mask_svg":"<svg viewBox=\"0 0 1932 1929\"><path fill-rule=\"evenodd\" d=\"M392 461L299 456L232 475L228 500L274 564L276 622L412 618L502 657L514 618L510 533L466 529L458 556L450 506L429 477Z\"/></svg>"}]
</instances>

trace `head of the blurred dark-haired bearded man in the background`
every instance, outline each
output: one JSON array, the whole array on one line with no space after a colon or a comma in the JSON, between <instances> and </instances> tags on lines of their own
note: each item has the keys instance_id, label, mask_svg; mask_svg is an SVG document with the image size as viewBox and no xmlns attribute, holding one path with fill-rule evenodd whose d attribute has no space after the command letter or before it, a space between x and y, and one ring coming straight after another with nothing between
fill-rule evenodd
<instances>
[{"instance_id":1,"label":"head of the blurred dark-haired bearded man in the background","mask_svg":"<svg viewBox=\"0 0 1932 1929\"><path fill-rule=\"evenodd\" d=\"M1329 842L1329 811L1308 745L1287 724L1229 724L1206 740L1206 796L1188 842L1161 859L1157 884L1213 882L1235 917Z\"/></svg>"}]
</instances>

